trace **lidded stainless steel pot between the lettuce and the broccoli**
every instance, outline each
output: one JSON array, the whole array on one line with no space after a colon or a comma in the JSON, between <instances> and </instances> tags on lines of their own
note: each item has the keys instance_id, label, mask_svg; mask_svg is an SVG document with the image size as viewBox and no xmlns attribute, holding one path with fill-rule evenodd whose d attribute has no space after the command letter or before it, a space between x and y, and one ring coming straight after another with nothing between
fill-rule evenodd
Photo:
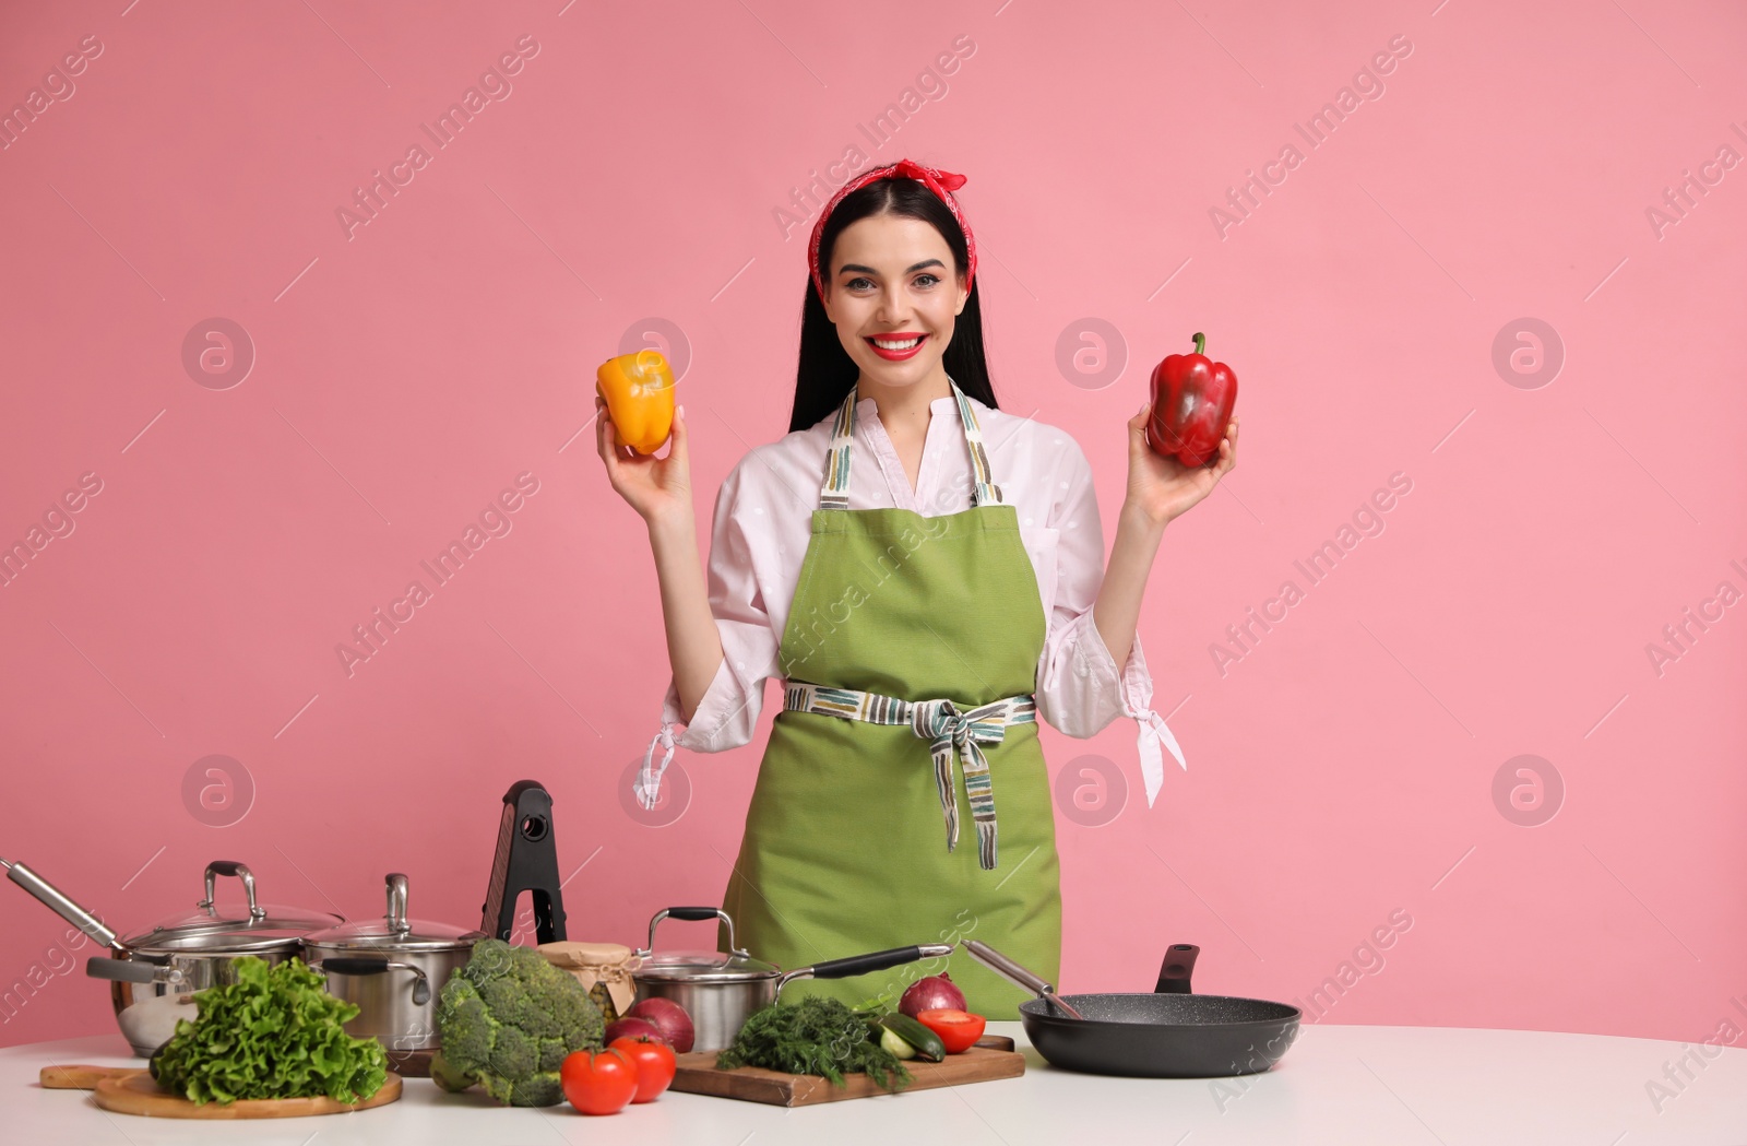
<instances>
[{"instance_id":1,"label":"lidded stainless steel pot between the lettuce and the broccoli","mask_svg":"<svg viewBox=\"0 0 1747 1146\"><path fill-rule=\"evenodd\" d=\"M484 931L407 919L407 877L388 875L388 914L304 936L309 966L327 975L328 994L358 1004L346 1032L376 1038L390 1057L435 1050L437 992L466 966Z\"/></svg>"}]
</instances>

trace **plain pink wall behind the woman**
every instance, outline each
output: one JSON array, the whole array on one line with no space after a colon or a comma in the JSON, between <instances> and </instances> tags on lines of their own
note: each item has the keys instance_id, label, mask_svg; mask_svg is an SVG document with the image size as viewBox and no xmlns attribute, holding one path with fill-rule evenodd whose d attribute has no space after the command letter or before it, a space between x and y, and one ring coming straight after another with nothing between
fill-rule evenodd
<instances>
[{"instance_id":1,"label":"plain pink wall behind the woman","mask_svg":"<svg viewBox=\"0 0 1747 1146\"><path fill-rule=\"evenodd\" d=\"M1001 405L1081 442L1106 540L1151 363L1205 330L1242 377L1242 465L1167 531L1141 627L1190 770L1146 809L1132 721L1045 732L1062 982L1146 989L1195 942L1205 992L1307 1001L1354 964L1324 1022L1716 1038L1747 999L1747 169L1716 166L1747 155L1747 16L1433 7L12 5L0 107L45 105L0 150L0 540L101 491L0 587L0 854L126 929L213 858L356 917L402 870L414 915L470 924L535 777L564 870L589 860L573 938L715 900L769 706L751 746L680 755L678 821L624 807L667 660L643 529L573 435L592 367L676 332L708 528L786 426L807 225L774 211L860 143L970 176ZM1668 206L1688 171L1719 182ZM211 318L246 377L185 355ZM1076 372L1088 318L1120 376ZM435 587L421 559L524 473ZM335 646L414 578L432 599L348 673ZM1277 620L1246 652L1251 608ZM211 755L252 790L236 823L201 807ZM1522 756L1544 781L1516 812ZM0 907L0 984L35 980L0 1043L112 1029L66 928Z\"/></svg>"}]
</instances>

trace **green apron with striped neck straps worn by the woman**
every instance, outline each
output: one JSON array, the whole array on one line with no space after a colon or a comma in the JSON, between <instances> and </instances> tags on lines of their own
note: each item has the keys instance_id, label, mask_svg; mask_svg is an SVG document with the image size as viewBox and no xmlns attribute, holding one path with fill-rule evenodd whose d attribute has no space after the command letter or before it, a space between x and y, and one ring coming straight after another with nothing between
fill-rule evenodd
<instances>
[{"instance_id":1,"label":"green apron with striped neck straps worn by the woman","mask_svg":"<svg viewBox=\"0 0 1747 1146\"><path fill-rule=\"evenodd\" d=\"M777 653L786 706L723 894L739 945L784 970L964 938L1050 982L1060 968L1055 819L1031 716L1046 620L1017 512L999 503L975 412L957 384L952 393L978 479L977 505L959 514L847 508L856 391L839 411ZM861 697L863 713L947 699L950 715L1017 699L1027 716L977 744L987 760L982 774L963 741L954 751L950 739L931 744L908 721L821 711L821 697L847 697L853 708L856 694L847 690L872 694ZM942 716L938 704L933 716ZM956 809L966 807L977 832L949 851L943 823L956 825ZM718 947L725 940L723 928ZM1031 998L963 949L846 980L793 980L783 994L854 1004L940 971L952 975L971 1011L992 1020L1019 1018L1019 1003Z\"/></svg>"}]
</instances>

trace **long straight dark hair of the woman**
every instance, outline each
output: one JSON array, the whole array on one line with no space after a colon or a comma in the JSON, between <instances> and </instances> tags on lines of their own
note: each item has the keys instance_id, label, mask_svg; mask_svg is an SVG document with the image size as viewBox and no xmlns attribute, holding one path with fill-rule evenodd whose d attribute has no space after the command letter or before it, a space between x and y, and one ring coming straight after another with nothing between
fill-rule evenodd
<instances>
[{"instance_id":1,"label":"long straight dark hair of the woman","mask_svg":"<svg viewBox=\"0 0 1747 1146\"><path fill-rule=\"evenodd\" d=\"M837 204L832 217L825 220L819 232L819 273L830 280L832 248L837 236L849 224L868 215L903 215L921 218L935 227L940 238L952 248L959 276L970 266L970 248L964 245L964 231L952 218L952 211L935 192L910 178L874 180L860 187ZM942 365L966 397L977 398L994 409L994 388L989 384L989 360L982 344L982 300L977 283L971 283L970 299L957 316L952 341L942 355ZM800 306L800 363L795 369L795 405L788 418L790 431L805 430L837 412L847 395L856 386L861 369L849 351L837 339L837 327L825 313L825 302L812 286L812 274L807 274L807 299Z\"/></svg>"}]
</instances>

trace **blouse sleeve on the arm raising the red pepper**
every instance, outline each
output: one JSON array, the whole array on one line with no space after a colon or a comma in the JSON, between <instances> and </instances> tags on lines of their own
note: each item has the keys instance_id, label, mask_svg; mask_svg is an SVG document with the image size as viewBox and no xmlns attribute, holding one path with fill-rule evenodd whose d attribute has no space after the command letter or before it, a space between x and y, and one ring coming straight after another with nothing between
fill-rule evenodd
<instances>
[{"instance_id":1,"label":"blouse sleeve on the arm raising the red pepper","mask_svg":"<svg viewBox=\"0 0 1747 1146\"><path fill-rule=\"evenodd\" d=\"M1153 676L1146 667L1141 634L1134 634L1129 659L1118 671L1116 659L1104 643L1092 617L1097 590L1104 583L1104 529L1097 512L1097 489L1085 452L1071 438L1062 459L1062 496L1050 508L1048 524L1057 529L1055 604L1050 632L1038 662L1038 715L1053 728L1078 737L1092 737L1118 716L1139 723L1136 748L1146 804L1151 807L1164 783L1160 744L1188 769L1176 735L1151 709Z\"/></svg>"}]
</instances>

